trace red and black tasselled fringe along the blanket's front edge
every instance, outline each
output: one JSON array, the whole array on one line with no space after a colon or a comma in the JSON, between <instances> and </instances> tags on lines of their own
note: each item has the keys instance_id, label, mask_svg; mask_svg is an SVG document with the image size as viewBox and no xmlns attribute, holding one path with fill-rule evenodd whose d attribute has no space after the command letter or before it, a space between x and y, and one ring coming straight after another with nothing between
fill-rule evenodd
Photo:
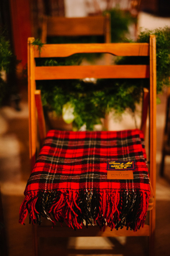
<instances>
[{"instance_id":1,"label":"red and black tasselled fringe along the blanket's front edge","mask_svg":"<svg viewBox=\"0 0 170 256\"><path fill-rule=\"evenodd\" d=\"M142 190L81 190L28 192L21 207L19 223L29 214L30 222L40 224L42 217L53 225L65 222L82 229L84 221L102 229L126 226L137 231L144 226L150 192Z\"/></svg>"}]
</instances>

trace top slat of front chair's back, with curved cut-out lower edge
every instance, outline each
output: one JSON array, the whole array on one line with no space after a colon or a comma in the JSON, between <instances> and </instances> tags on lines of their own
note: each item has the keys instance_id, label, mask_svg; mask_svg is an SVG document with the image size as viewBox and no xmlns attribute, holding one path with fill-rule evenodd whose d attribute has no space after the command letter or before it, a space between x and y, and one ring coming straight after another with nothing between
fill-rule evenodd
<instances>
[{"instance_id":1,"label":"top slat of front chair's back, with curved cut-out lower edge","mask_svg":"<svg viewBox=\"0 0 170 256\"><path fill-rule=\"evenodd\" d=\"M67 57L75 53L111 53L115 56L149 56L147 43L122 44L45 44L42 51L35 48L34 57Z\"/></svg>"}]
</instances>

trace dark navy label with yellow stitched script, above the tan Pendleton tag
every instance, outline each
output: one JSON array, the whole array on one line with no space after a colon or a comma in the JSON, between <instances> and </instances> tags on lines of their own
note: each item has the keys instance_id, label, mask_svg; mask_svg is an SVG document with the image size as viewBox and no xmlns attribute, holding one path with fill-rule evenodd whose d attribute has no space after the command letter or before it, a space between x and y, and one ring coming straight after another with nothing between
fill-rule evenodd
<instances>
[{"instance_id":1,"label":"dark navy label with yellow stitched script, above the tan Pendleton tag","mask_svg":"<svg viewBox=\"0 0 170 256\"><path fill-rule=\"evenodd\" d=\"M119 160L110 160L107 164L107 170L134 170L135 163L134 161L119 161Z\"/></svg>"}]
</instances>

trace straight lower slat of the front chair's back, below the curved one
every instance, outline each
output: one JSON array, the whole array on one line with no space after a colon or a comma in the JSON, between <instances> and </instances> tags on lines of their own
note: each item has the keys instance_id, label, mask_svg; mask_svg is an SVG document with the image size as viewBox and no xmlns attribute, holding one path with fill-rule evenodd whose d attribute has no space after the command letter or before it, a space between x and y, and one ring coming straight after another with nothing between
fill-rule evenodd
<instances>
[{"instance_id":1,"label":"straight lower slat of the front chair's back, below the curved one","mask_svg":"<svg viewBox=\"0 0 170 256\"><path fill-rule=\"evenodd\" d=\"M35 80L83 78L149 78L148 65L35 67Z\"/></svg>"}]
</instances>

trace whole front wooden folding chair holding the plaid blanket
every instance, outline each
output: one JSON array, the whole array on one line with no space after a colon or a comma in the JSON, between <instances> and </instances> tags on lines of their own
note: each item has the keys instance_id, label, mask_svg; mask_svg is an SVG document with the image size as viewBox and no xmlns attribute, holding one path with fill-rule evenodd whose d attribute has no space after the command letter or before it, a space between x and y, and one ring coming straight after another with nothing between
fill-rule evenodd
<instances>
[{"instance_id":1,"label":"whole front wooden folding chair holding the plaid blanket","mask_svg":"<svg viewBox=\"0 0 170 256\"><path fill-rule=\"evenodd\" d=\"M150 43L117 43L117 44L64 44L44 45L40 57L66 57L74 53L110 53L115 56L148 56L149 65L89 65L89 66L57 66L36 67L35 58L39 57L39 51L31 44L34 38L28 39L28 101L29 101L29 138L30 138L30 160L31 169L34 167L38 153L37 139L37 114L39 123L39 134L41 143L46 136L45 120L43 117L40 91L36 90L36 80L51 79L83 79L95 78L147 78L150 79L150 89L144 92L143 114L141 129L145 132L147 118L147 102L149 101L149 171L150 182L155 195L156 180L156 40L150 36ZM48 226L34 225L34 255L38 255L39 237L79 237L79 236L147 236L150 241L150 256L154 256L154 234L155 234L155 203L153 206L153 195L151 196L148 212L149 224L136 232L123 229L112 231L106 227L105 232L99 231L93 226L88 229L72 230L69 227L57 227L51 229ZM148 208L148 210L149 210Z\"/></svg>"}]
</instances>

